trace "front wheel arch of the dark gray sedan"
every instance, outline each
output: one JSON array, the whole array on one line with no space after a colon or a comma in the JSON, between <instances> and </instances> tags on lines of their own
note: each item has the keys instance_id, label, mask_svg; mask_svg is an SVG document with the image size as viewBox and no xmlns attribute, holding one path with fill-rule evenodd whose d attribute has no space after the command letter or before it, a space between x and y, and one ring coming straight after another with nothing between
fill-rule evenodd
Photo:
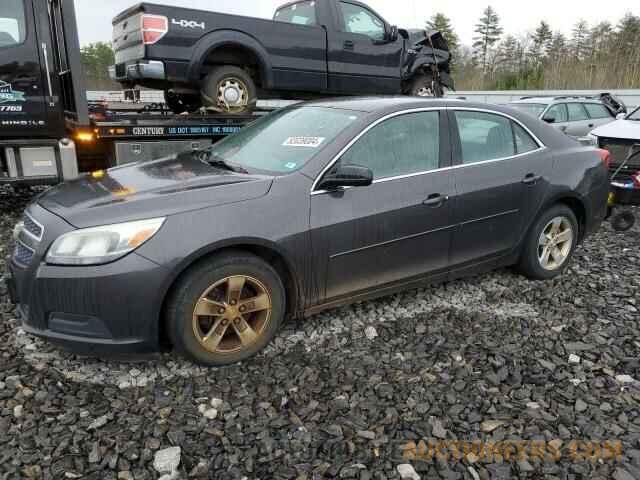
<instances>
[{"instance_id":1,"label":"front wheel arch of the dark gray sedan","mask_svg":"<svg viewBox=\"0 0 640 480\"><path fill-rule=\"evenodd\" d=\"M209 259L223 255L225 252L245 252L255 255L271 265L278 272L285 287L287 310L286 316L296 317L300 312L303 299L301 296L300 278L296 274L295 267L288 255L277 244L258 238L237 238L209 245L197 252L185 257L174 268L167 286L161 297L161 307L158 312L158 336L160 344L168 343L165 312L178 282L184 275L196 265Z\"/></svg>"}]
</instances>

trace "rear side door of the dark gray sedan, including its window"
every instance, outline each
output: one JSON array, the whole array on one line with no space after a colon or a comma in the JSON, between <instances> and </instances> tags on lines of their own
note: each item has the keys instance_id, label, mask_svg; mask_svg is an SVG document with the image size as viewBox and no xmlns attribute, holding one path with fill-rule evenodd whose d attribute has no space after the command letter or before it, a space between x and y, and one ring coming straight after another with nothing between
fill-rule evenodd
<instances>
[{"instance_id":1,"label":"rear side door of the dark gray sedan, including its window","mask_svg":"<svg viewBox=\"0 0 640 480\"><path fill-rule=\"evenodd\" d=\"M548 188L552 157L522 124L496 112L457 109L454 177L457 224L452 267L512 251Z\"/></svg>"}]
</instances>

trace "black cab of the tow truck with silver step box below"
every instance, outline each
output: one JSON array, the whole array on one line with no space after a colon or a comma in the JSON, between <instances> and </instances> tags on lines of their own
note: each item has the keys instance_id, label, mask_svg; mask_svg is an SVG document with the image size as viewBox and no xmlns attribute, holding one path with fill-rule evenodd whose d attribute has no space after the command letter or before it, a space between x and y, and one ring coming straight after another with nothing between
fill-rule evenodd
<instances>
[{"instance_id":1,"label":"black cab of the tow truck with silver step box below","mask_svg":"<svg viewBox=\"0 0 640 480\"><path fill-rule=\"evenodd\" d=\"M77 176L70 124L89 125L73 0L0 2L0 183Z\"/></svg>"}]
</instances>

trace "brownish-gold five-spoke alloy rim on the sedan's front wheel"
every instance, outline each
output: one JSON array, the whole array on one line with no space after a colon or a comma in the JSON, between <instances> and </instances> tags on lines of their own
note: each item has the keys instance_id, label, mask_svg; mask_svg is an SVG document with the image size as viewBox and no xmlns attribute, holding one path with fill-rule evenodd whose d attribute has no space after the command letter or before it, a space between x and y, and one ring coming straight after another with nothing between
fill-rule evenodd
<instances>
[{"instance_id":1,"label":"brownish-gold five-spoke alloy rim on the sedan's front wheel","mask_svg":"<svg viewBox=\"0 0 640 480\"><path fill-rule=\"evenodd\" d=\"M269 326L271 310L271 295L259 280L227 277L196 302L193 334L208 352L236 353L258 341Z\"/></svg>"}]
</instances>

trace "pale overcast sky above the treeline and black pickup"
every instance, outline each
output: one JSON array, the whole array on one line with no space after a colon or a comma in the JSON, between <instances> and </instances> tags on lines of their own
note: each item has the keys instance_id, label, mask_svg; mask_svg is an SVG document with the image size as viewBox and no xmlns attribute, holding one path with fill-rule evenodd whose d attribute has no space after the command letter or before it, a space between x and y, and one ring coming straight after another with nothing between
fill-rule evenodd
<instances>
[{"instance_id":1,"label":"pale overcast sky above the treeline and black pickup","mask_svg":"<svg viewBox=\"0 0 640 480\"><path fill-rule=\"evenodd\" d=\"M270 18L275 8L285 0L154 0L165 5L185 6L203 10L215 10L239 15ZM108 41L111 39L111 19L137 0L75 0L80 43ZM462 43L471 45L473 28L482 11L491 4L500 15L505 33L515 35L533 31L541 20L552 28L570 34L580 19L591 25L603 20L617 22L625 13L640 15L638 0L608 0L606 4L595 0L365 0L385 19L400 27L423 27L436 12L451 18Z\"/></svg>"}]
</instances>

